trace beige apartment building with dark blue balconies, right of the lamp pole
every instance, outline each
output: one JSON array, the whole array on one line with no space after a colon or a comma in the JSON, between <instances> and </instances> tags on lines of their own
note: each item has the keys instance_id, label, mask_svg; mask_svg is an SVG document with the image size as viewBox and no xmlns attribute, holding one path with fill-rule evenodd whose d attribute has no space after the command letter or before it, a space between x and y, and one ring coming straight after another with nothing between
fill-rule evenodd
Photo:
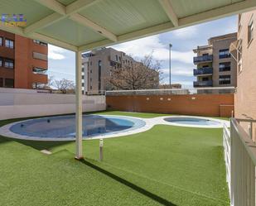
<instances>
[{"instance_id":1,"label":"beige apartment building with dark blue balconies, right of the lamp pole","mask_svg":"<svg viewBox=\"0 0 256 206\"><path fill-rule=\"evenodd\" d=\"M229 46L236 41L237 33L211 37L208 45L194 51L194 87L236 86L236 60L229 54Z\"/></svg>"}]
</instances>

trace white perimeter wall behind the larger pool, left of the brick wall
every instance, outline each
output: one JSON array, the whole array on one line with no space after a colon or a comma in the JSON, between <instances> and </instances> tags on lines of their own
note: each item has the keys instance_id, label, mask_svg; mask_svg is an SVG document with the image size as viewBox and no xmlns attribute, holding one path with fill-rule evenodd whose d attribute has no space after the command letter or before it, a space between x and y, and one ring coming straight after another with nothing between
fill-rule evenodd
<instances>
[{"instance_id":1,"label":"white perimeter wall behind the larger pool, left of the brick wall","mask_svg":"<svg viewBox=\"0 0 256 206\"><path fill-rule=\"evenodd\" d=\"M82 96L83 112L104 111L106 98ZM75 94L37 93L31 89L0 89L0 120L75 113Z\"/></svg>"}]
</instances>

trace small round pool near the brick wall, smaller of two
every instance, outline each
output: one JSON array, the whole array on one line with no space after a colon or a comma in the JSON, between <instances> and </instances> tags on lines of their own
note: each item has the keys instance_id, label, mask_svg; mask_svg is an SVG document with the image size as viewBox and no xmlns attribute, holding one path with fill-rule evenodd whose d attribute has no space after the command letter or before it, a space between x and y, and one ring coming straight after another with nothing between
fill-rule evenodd
<instances>
[{"instance_id":1,"label":"small round pool near the brick wall, smaller of two","mask_svg":"<svg viewBox=\"0 0 256 206\"><path fill-rule=\"evenodd\" d=\"M186 116L174 116L166 117L164 121L170 122L176 126L186 127L223 127L226 122L218 119L207 118L207 117L186 117Z\"/></svg>"}]
</instances>

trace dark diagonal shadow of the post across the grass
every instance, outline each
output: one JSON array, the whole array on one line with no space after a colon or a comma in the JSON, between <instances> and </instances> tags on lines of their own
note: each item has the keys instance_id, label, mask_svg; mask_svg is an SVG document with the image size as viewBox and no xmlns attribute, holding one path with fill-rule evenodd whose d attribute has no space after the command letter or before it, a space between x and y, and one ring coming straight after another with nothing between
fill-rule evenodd
<instances>
[{"instance_id":1,"label":"dark diagonal shadow of the post across the grass","mask_svg":"<svg viewBox=\"0 0 256 206\"><path fill-rule=\"evenodd\" d=\"M107 170L104 170L104 169L100 168L99 166L90 163L87 160L83 159L83 160L80 160L80 162L82 162L85 165L88 165L89 167L93 168L94 170L98 170L99 172L103 173L104 175L109 176L110 178L118 181L119 183L124 184L133 190L136 190L138 193L143 194L152 200L155 200L159 204L166 205L166 206L176 206L176 204L172 204L167 199L163 199L163 198L157 196L157 194L152 194L151 192L147 191L146 189L143 189L143 188L139 187L138 185L129 182L128 180L124 180L123 178L118 177L118 175L114 175L113 173L111 173Z\"/></svg>"}]
</instances>

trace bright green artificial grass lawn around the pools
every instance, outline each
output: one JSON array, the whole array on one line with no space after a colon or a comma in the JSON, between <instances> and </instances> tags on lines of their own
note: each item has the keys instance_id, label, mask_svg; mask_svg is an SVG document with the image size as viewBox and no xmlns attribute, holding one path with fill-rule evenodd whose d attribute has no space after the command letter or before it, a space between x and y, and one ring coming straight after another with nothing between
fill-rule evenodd
<instances>
[{"instance_id":1,"label":"bright green artificial grass lawn around the pools","mask_svg":"<svg viewBox=\"0 0 256 206\"><path fill-rule=\"evenodd\" d=\"M220 129L159 125L105 139L103 162L99 140L83 144L78 161L74 142L0 137L0 205L229 205Z\"/></svg>"}]
</instances>

